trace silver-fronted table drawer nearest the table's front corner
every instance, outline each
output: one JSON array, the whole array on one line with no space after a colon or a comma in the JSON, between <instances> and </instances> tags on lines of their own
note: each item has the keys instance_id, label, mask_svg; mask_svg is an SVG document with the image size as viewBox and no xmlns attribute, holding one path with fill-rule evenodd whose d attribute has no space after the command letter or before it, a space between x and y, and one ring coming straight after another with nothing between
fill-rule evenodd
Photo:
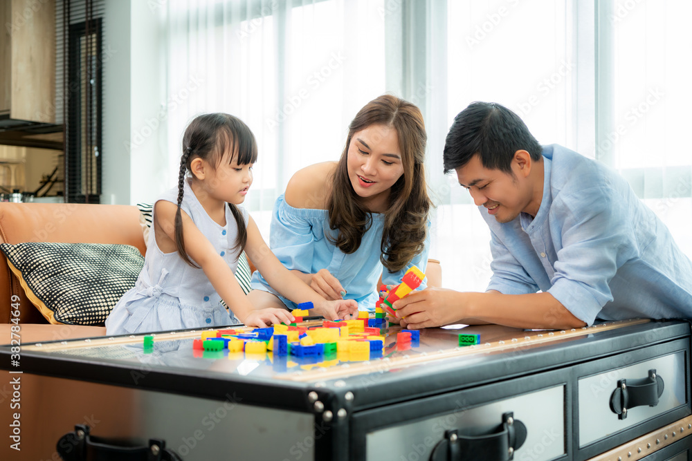
<instances>
[{"instance_id":1,"label":"silver-fronted table drawer nearest the table's front corner","mask_svg":"<svg viewBox=\"0 0 692 461\"><path fill-rule=\"evenodd\" d=\"M543 373L358 413L352 424L354 446L363 448L352 459L427 460L446 431L487 434L500 428L507 412L527 429L515 460L561 458L571 431L565 414L570 392L562 376Z\"/></svg>"}]
</instances>

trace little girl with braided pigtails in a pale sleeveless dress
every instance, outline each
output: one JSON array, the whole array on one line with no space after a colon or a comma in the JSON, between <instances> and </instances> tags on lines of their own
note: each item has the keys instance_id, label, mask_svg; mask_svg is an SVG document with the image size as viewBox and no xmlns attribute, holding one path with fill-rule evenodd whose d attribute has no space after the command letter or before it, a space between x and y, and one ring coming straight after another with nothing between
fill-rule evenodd
<instances>
[{"instance_id":1,"label":"little girl with braided pigtails in a pale sleeveless dress","mask_svg":"<svg viewBox=\"0 0 692 461\"><path fill-rule=\"evenodd\" d=\"M107 318L108 335L224 326L236 319L258 327L289 323L293 316L285 308L255 310L238 285L233 272L244 248L263 278L284 296L312 301L328 319L358 310L354 301L323 299L286 270L253 218L237 206L252 184L255 160L255 137L236 117L212 113L190 123L178 187L154 205L145 265L135 287Z\"/></svg>"}]
</instances>

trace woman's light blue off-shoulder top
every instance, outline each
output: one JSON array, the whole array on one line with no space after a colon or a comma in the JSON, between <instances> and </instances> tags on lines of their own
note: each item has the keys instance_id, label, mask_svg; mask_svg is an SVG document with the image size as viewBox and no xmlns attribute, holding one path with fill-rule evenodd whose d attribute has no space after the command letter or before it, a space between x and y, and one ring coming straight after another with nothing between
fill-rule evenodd
<instances>
[{"instance_id":1,"label":"woman's light blue off-shoulder top","mask_svg":"<svg viewBox=\"0 0 692 461\"><path fill-rule=\"evenodd\" d=\"M373 213L372 226L365 232L361 246L352 254L345 254L332 244L325 236L335 236L336 231L329 229L329 212L325 209L293 208L284 200L277 198L271 218L269 246L279 261L289 270L300 270L314 274L326 268L334 275L347 294L344 299L358 301L360 310L374 310L379 299L377 279L382 274L382 283L397 285L401 277L412 266L416 265L425 272L430 250L430 232L425 248L399 272L383 270L380 263L384 215ZM426 281L419 290L426 286ZM269 286L260 272L255 271L252 279L253 290L263 290L275 294L289 309L295 309L295 303L280 296Z\"/></svg>"}]
</instances>

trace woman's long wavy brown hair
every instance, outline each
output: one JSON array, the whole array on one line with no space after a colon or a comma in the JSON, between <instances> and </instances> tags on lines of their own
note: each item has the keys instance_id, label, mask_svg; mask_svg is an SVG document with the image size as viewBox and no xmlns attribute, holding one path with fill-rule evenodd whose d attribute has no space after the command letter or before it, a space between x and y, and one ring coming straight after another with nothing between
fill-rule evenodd
<instances>
[{"instance_id":1,"label":"woman's long wavy brown hair","mask_svg":"<svg viewBox=\"0 0 692 461\"><path fill-rule=\"evenodd\" d=\"M349 180L347 157L354 133L373 124L397 130L402 154L403 175L390 191L380 245L380 261L390 272L397 272L423 251L431 206L424 167L428 135L420 109L410 102L382 95L358 111L349 125L327 202L329 227L338 231L330 239L339 250L351 254L372 225L371 212L361 204Z\"/></svg>"}]
</instances>

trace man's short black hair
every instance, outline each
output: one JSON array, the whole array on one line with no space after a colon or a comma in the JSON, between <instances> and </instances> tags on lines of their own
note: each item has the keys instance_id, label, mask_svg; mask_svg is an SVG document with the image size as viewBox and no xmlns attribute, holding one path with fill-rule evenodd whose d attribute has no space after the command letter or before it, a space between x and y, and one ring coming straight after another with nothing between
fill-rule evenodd
<instances>
[{"instance_id":1,"label":"man's short black hair","mask_svg":"<svg viewBox=\"0 0 692 461\"><path fill-rule=\"evenodd\" d=\"M495 102L473 102L454 118L444 143L444 172L463 167L475 154L483 167L512 173L514 153L527 151L540 160L543 148L526 124Z\"/></svg>"}]
</instances>

